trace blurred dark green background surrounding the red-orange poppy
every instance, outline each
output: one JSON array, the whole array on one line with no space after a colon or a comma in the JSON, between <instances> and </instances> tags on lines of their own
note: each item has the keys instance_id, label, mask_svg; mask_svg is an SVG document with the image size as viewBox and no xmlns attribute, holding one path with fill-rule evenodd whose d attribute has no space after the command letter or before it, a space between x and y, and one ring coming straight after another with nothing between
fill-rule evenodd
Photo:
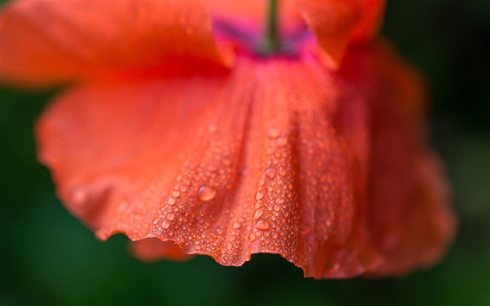
<instances>
[{"instance_id":1,"label":"blurred dark green background surrounding the red-orange poppy","mask_svg":"<svg viewBox=\"0 0 490 306\"><path fill-rule=\"evenodd\" d=\"M401 279L315 281L263 254L240 268L207 256L140 263L125 237L99 242L73 218L36 162L32 126L52 93L1 88L0 305L489 305L490 1L390 1L383 32L433 92L430 141L459 217L440 265Z\"/></svg>"}]
</instances>

